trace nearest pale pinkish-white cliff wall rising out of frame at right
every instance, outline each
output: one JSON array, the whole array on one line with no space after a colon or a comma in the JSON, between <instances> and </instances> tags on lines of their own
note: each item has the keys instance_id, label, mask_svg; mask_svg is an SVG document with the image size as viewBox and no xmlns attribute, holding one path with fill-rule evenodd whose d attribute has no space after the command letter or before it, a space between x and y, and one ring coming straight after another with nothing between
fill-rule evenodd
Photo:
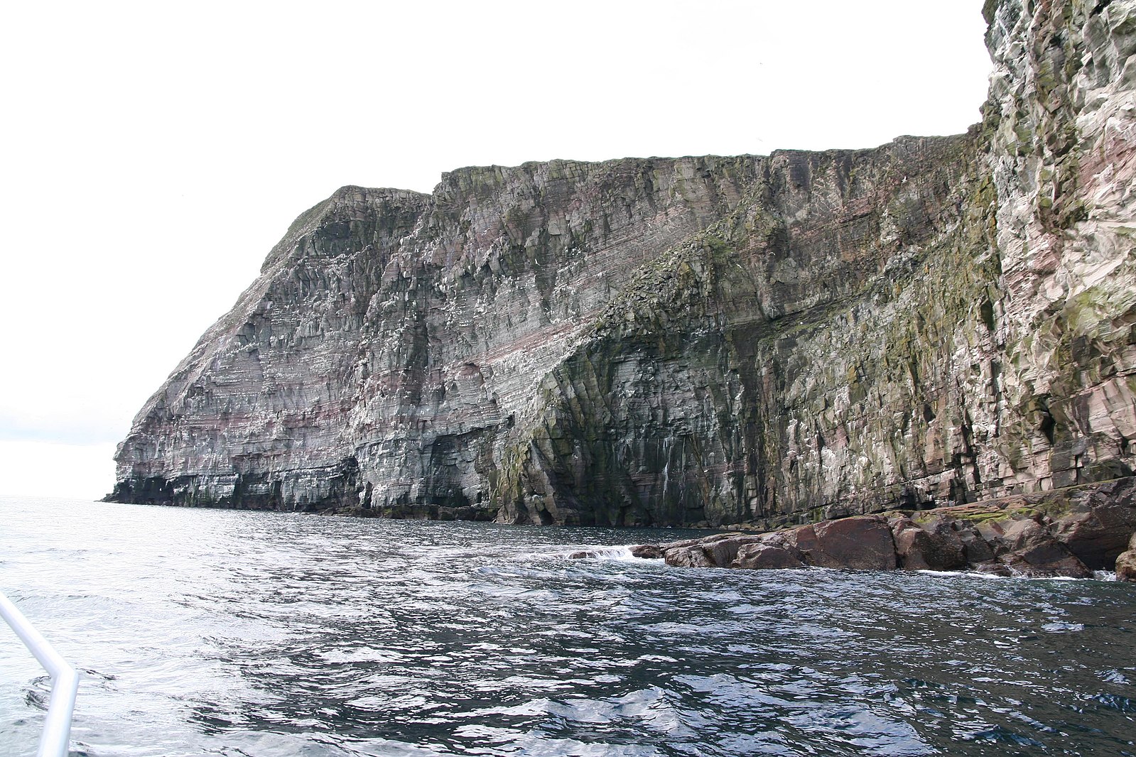
<instances>
[{"instance_id":1,"label":"nearest pale pinkish-white cliff wall rising out of frame at right","mask_svg":"<svg viewBox=\"0 0 1136 757\"><path fill-rule=\"evenodd\" d=\"M1039 488L1130 474L1136 6L989 5L1002 354L982 462Z\"/></svg>"}]
</instances>

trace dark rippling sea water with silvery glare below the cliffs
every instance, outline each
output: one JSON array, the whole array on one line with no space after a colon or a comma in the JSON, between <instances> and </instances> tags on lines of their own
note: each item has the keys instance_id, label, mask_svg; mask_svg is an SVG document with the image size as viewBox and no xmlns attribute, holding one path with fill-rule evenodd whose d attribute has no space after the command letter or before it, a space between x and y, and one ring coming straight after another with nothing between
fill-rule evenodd
<instances>
[{"instance_id":1,"label":"dark rippling sea water with silvery glare below the cliffs","mask_svg":"<svg viewBox=\"0 0 1136 757\"><path fill-rule=\"evenodd\" d=\"M0 497L0 590L81 755L1136 755L1134 584L566 558L683 535Z\"/></svg>"}]
</instances>

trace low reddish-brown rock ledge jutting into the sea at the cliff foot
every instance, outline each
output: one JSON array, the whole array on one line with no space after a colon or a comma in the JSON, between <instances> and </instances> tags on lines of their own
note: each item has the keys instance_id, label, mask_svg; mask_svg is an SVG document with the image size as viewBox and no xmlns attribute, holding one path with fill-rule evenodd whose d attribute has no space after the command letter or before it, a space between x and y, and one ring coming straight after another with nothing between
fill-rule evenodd
<instances>
[{"instance_id":1,"label":"low reddish-brown rock ledge jutting into the sea at the cliff foot","mask_svg":"<svg viewBox=\"0 0 1136 757\"><path fill-rule=\"evenodd\" d=\"M632 548L686 567L977 571L1136 581L1136 477L925 511ZM1126 550L1127 549L1127 550ZM584 556L584 555L582 555Z\"/></svg>"}]
</instances>

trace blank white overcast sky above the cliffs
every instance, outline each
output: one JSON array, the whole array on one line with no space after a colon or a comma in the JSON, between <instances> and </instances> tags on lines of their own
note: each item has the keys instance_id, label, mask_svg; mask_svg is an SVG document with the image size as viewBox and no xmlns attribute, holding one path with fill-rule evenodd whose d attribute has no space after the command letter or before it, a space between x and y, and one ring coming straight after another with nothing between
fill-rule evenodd
<instances>
[{"instance_id":1,"label":"blank white overcast sky above the cliffs","mask_svg":"<svg viewBox=\"0 0 1136 757\"><path fill-rule=\"evenodd\" d=\"M339 186L962 132L980 8L5 3L0 494L109 491L134 413Z\"/></svg>"}]
</instances>

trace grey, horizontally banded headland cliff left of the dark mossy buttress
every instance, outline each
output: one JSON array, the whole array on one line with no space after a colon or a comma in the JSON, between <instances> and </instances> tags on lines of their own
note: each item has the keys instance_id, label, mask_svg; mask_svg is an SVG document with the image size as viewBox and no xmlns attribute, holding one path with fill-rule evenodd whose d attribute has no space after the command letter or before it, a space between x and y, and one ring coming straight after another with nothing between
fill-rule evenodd
<instances>
[{"instance_id":1,"label":"grey, horizontally banded headland cliff left of the dark mossy buttress","mask_svg":"<svg viewBox=\"0 0 1136 757\"><path fill-rule=\"evenodd\" d=\"M553 161L453 171L429 196L340 190L139 413L112 496L491 507L494 449L534 384L757 163Z\"/></svg>"}]
</instances>

